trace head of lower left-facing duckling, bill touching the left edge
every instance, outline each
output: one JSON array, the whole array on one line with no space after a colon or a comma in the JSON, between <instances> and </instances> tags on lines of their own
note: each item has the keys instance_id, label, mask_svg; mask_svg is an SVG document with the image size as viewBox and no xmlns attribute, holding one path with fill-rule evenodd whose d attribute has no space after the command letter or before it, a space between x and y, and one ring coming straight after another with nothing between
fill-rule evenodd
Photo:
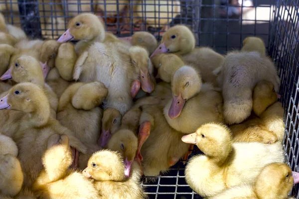
<instances>
[{"instance_id":1,"label":"head of lower left-facing duckling, bill touching the left edge","mask_svg":"<svg viewBox=\"0 0 299 199\"><path fill-rule=\"evenodd\" d=\"M13 86L8 94L0 99L0 109L3 108L27 113L42 110L44 115L50 114L49 101L42 88L32 83L20 83Z\"/></svg>"}]
</instances>

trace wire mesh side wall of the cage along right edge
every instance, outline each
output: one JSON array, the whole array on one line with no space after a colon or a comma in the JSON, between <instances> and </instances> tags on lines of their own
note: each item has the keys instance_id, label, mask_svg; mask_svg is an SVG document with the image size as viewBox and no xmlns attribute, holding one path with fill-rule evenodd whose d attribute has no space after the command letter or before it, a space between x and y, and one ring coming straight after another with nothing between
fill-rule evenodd
<instances>
[{"instance_id":1,"label":"wire mesh side wall of the cage along right edge","mask_svg":"<svg viewBox=\"0 0 299 199\"><path fill-rule=\"evenodd\" d=\"M299 171L299 0L280 0L274 13L271 36L271 55L278 65L281 78L282 103L286 125L285 161L293 171ZM292 195L299 199L299 186Z\"/></svg>"}]
</instances>

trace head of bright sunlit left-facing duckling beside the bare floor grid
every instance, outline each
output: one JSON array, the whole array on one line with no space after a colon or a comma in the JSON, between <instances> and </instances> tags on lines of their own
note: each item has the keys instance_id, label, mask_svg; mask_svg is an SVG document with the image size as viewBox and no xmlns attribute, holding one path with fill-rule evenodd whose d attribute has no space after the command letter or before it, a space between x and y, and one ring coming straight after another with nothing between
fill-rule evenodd
<instances>
[{"instance_id":1,"label":"head of bright sunlit left-facing duckling beside the bare floor grid","mask_svg":"<svg viewBox=\"0 0 299 199\"><path fill-rule=\"evenodd\" d=\"M232 150L232 135L229 128L220 123L207 123L195 133L184 135L182 141L196 144L208 157L223 163Z\"/></svg>"}]
</instances>

